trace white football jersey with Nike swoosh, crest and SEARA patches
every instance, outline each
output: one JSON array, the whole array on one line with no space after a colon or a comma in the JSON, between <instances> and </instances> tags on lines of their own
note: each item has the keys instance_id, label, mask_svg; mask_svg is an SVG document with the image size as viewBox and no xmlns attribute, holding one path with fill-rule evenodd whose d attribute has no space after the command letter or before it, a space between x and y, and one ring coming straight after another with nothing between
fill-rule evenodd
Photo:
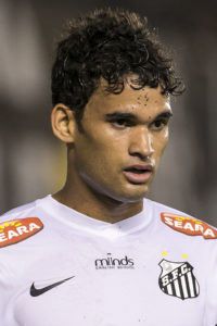
<instances>
[{"instance_id":1,"label":"white football jersey with Nike swoosh, crest and SEARA patches","mask_svg":"<svg viewBox=\"0 0 217 326\"><path fill-rule=\"evenodd\" d=\"M144 199L110 224L51 196L0 218L1 326L215 326L217 231Z\"/></svg>"}]
</instances>

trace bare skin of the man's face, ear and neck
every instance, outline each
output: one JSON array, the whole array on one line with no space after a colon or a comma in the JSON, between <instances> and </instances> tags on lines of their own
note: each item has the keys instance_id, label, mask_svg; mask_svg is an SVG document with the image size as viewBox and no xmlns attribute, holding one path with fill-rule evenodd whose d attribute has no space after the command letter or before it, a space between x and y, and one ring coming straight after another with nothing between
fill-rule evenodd
<instances>
[{"instance_id":1,"label":"bare skin of the man's face, ear and neck","mask_svg":"<svg viewBox=\"0 0 217 326\"><path fill-rule=\"evenodd\" d=\"M126 83L119 95L107 93L102 82L85 108L80 133L73 112L58 104L54 134L68 147L67 178L53 197L97 220L115 223L142 210L168 141L169 98L161 88L135 90ZM125 170L149 166L143 178Z\"/></svg>"}]
</instances>

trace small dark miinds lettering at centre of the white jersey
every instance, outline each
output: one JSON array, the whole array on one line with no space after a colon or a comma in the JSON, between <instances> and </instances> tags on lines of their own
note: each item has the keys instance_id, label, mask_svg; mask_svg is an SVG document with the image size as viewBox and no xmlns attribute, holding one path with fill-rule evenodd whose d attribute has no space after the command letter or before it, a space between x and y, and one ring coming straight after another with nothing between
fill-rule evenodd
<instances>
[{"instance_id":1,"label":"small dark miinds lettering at centre of the white jersey","mask_svg":"<svg viewBox=\"0 0 217 326\"><path fill-rule=\"evenodd\" d=\"M106 258L97 259L94 261L94 264L95 269L135 268L135 263L132 259L129 259L127 255L122 259L113 258L112 253L107 253Z\"/></svg>"}]
</instances>

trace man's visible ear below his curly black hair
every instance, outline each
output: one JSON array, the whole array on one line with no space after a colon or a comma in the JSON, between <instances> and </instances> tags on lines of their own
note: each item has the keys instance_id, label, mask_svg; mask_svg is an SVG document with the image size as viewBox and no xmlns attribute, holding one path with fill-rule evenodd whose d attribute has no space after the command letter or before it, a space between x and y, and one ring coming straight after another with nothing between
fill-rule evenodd
<instances>
[{"instance_id":1,"label":"man's visible ear below his curly black hair","mask_svg":"<svg viewBox=\"0 0 217 326\"><path fill-rule=\"evenodd\" d=\"M56 104L51 113L51 126L53 134L63 142L74 141L76 121L69 108L62 103Z\"/></svg>"}]
</instances>

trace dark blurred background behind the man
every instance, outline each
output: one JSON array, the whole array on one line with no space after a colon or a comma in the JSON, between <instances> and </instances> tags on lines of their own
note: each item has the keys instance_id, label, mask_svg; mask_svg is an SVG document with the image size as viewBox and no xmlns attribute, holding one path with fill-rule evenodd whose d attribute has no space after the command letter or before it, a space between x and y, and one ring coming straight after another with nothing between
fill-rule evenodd
<instances>
[{"instance_id":1,"label":"dark blurred background behind the man","mask_svg":"<svg viewBox=\"0 0 217 326\"><path fill-rule=\"evenodd\" d=\"M217 4L189 0L0 0L0 213L63 186L50 128L50 70L65 22L95 8L139 12L173 52L187 91L149 195L217 226Z\"/></svg>"}]
</instances>

